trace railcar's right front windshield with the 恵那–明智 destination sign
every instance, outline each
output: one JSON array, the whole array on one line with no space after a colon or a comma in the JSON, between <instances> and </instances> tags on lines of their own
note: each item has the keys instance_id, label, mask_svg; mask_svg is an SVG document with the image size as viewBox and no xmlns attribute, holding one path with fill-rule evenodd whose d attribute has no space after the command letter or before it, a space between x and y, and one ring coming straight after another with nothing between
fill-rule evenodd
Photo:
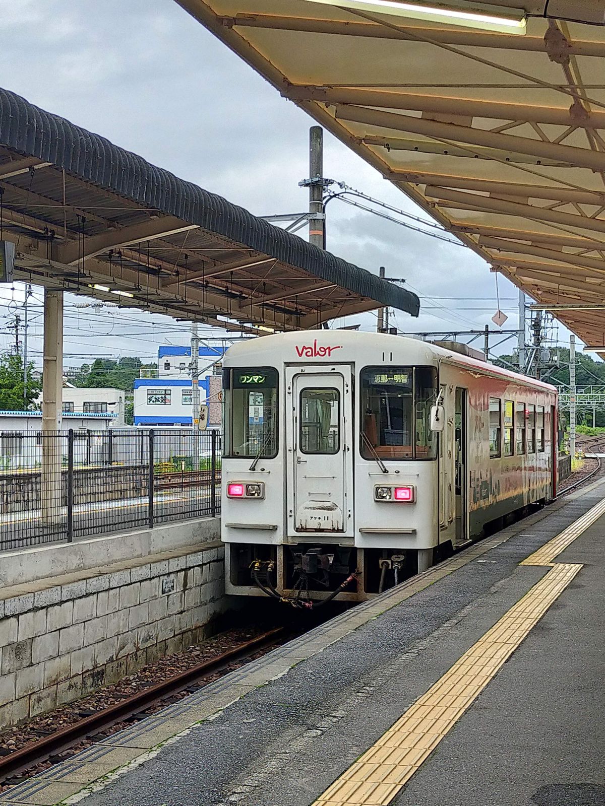
<instances>
[{"instance_id":1,"label":"railcar's right front windshield with the \u6075\u90a3\u2013\u660e\u667a destination sign","mask_svg":"<svg viewBox=\"0 0 605 806\"><path fill-rule=\"evenodd\" d=\"M361 455L365 459L435 459L429 428L437 397L434 367L366 367L361 371Z\"/></svg>"}]
</instances>

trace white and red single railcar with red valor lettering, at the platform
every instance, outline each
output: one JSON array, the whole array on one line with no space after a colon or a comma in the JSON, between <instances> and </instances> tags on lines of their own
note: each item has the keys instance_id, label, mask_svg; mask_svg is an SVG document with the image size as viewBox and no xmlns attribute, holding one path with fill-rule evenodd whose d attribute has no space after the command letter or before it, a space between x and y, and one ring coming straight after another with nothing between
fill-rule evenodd
<instances>
[{"instance_id":1,"label":"white and red single railcar with red valor lettering, at the platform","mask_svg":"<svg viewBox=\"0 0 605 806\"><path fill-rule=\"evenodd\" d=\"M556 389L460 349L305 330L227 351L228 593L365 600L553 498Z\"/></svg>"}]
</instances>

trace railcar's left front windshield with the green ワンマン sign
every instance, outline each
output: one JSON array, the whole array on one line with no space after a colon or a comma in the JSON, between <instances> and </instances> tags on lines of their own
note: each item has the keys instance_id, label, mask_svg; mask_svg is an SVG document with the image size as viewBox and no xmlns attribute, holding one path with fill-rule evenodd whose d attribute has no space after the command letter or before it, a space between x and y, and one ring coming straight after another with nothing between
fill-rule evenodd
<instances>
[{"instance_id":1,"label":"railcar's left front windshield with the green \u30ef\u30f3\u30de\u30f3 sign","mask_svg":"<svg viewBox=\"0 0 605 806\"><path fill-rule=\"evenodd\" d=\"M224 455L270 459L277 455L277 370L223 370Z\"/></svg>"}]
</instances>

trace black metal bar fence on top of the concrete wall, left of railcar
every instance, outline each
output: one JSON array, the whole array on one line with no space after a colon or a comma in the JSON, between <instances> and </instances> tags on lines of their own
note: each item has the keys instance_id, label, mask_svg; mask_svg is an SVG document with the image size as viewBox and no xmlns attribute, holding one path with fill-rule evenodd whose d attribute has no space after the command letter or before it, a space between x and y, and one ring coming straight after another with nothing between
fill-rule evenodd
<instances>
[{"instance_id":1,"label":"black metal bar fence on top of the concrete wall, left of railcar","mask_svg":"<svg viewBox=\"0 0 605 806\"><path fill-rule=\"evenodd\" d=\"M0 550L220 512L218 431L0 433Z\"/></svg>"}]
</instances>

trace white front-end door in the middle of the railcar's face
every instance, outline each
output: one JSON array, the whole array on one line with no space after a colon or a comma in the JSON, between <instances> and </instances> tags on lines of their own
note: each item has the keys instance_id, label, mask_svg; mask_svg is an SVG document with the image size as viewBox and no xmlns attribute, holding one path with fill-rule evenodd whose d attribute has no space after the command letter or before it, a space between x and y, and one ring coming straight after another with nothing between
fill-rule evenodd
<instances>
[{"instance_id":1,"label":"white front-end door in the middle of the railcar's face","mask_svg":"<svg viewBox=\"0 0 605 806\"><path fill-rule=\"evenodd\" d=\"M353 536L351 368L286 368L288 534Z\"/></svg>"}]
</instances>

